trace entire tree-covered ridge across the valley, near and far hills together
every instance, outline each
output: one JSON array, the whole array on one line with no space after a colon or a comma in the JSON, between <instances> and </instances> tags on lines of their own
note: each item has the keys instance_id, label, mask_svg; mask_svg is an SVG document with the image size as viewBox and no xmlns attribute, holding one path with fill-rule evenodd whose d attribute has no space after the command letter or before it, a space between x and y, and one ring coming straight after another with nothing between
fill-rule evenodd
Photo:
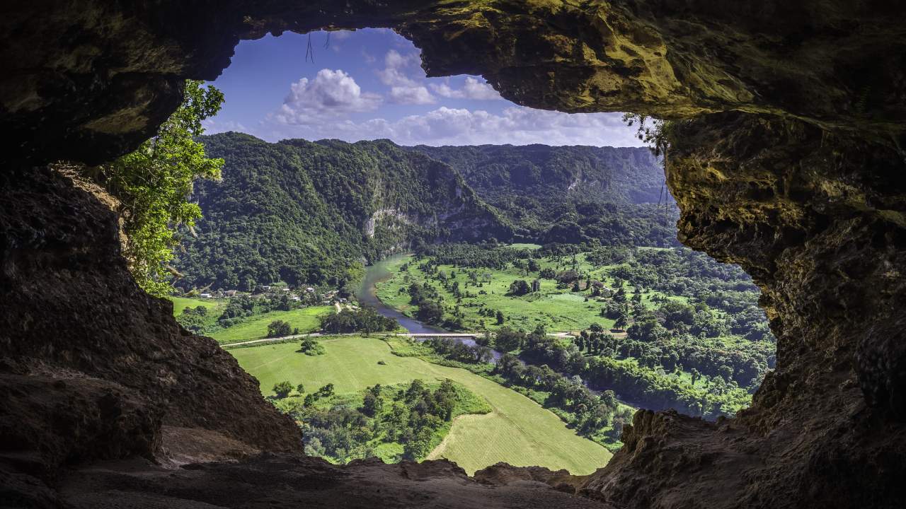
<instances>
[{"instance_id":1,"label":"entire tree-covered ridge across the valley, near and far hills together","mask_svg":"<svg viewBox=\"0 0 906 509\"><path fill-rule=\"evenodd\" d=\"M200 140L226 164L193 195L204 217L174 264L187 289L342 287L362 262L433 242L676 243L675 211L636 203L658 199L663 183L647 149Z\"/></svg>"}]
</instances>

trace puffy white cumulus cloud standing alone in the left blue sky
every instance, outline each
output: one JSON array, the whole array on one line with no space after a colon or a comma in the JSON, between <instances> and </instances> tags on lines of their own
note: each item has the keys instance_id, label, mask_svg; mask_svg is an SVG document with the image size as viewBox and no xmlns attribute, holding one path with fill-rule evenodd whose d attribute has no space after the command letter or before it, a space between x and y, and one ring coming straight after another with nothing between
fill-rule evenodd
<instances>
[{"instance_id":1,"label":"puffy white cumulus cloud standing alone in the left blue sky","mask_svg":"<svg viewBox=\"0 0 906 509\"><path fill-rule=\"evenodd\" d=\"M273 116L285 124L371 111L381 105L379 94L362 92L352 76L340 69L322 69L312 80L303 78L290 86L283 106Z\"/></svg>"}]
</instances>

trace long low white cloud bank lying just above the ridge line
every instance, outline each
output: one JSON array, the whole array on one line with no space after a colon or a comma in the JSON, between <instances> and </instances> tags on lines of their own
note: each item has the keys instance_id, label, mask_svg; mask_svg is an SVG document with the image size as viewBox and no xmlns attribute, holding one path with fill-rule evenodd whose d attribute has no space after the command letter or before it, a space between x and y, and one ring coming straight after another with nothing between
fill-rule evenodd
<instances>
[{"instance_id":1,"label":"long low white cloud bank lying just above the ridge line","mask_svg":"<svg viewBox=\"0 0 906 509\"><path fill-rule=\"evenodd\" d=\"M521 106L500 114L485 110L440 107L400 120L335 120L317 125L270 125L258 133L266 139L338 138L347 141L389 138L400 145L611 145L640 146L621 113L562 113ZM265 126L263 126L265 127Z\"/></svg>"}]
</instances>

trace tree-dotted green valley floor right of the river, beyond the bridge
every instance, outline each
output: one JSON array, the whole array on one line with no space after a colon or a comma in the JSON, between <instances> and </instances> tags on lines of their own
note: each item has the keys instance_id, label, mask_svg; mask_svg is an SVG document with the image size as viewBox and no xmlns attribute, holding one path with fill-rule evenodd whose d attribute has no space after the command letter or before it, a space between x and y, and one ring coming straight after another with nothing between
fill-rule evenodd
<instances>
[{"instance_id":1,"label":"tree-dotted green valley floor right of the river, beyond the bridge","mask_svg":"<svg viewBox=\"0 0 906 509\"><path fill-rule=\"evenodd\" d=\"M487 346L642 408L717 418L747 407L776 346L745 274L689 250L560 249L436 246L391 259L377 294L435 326L494 331Z\"/></svg>"}]
</instances>

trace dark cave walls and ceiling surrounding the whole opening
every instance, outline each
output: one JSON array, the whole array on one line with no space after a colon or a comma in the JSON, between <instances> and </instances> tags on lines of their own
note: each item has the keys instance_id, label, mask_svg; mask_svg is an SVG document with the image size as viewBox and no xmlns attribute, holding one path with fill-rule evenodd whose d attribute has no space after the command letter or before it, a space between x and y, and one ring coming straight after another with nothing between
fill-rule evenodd
<instances>
[{"instance_id":1,"label":"dark cave walls and ceiling surrounding the whole opening","mask_svg":"<svg viewBox=\"0 0 906 509\"><path fill-rule=\"evenodd\" d=\"M139 293L100 205L34 166L100 161L134 147L176 107L182 80L214 78L241 38L390 26L422 48L430 75L481 73L506 98L540 108L679 120L670 130L668 180L682 212L680 240L742 264L764 290L777 370L751 409L716 424L641 411L609 466L558 485L580 485L583 495L617 507L903 506L906 5L82 0L54 7L0 7L0 127L13 133L4 140L0 189L0 445L11 472L5 484L15 493L30 490L35 504L51 500L34 476L47 479L42 469L56 472L62 461L154 456L162 424L265 450L292 449L297 439L235 362L183 335L163 304ZM21 422L29 430L15 426ZM262 462L210 468L250 475ZM341 475L358 468L366 466ZM214 479L198 475L185 490L208 489L206 478ZM400 506L419 505L417 490L400 489L393 492Z\"/></svg>"}]
</instances>

